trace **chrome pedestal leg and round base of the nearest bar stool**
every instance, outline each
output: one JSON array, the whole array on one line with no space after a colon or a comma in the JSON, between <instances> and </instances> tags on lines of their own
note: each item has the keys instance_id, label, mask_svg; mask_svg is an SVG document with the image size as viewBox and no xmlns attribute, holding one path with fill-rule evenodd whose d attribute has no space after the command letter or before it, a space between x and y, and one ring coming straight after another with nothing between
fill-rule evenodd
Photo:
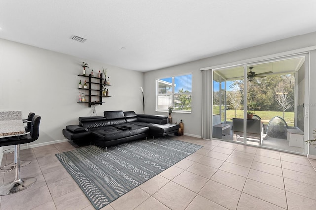
<instances>
[{"instance_id":1,"label":"chrome pedestal leg and round base of the nearest bar stool","mask_svg":"<svg viewBox=\"0 0 316 210\"><path fill-rule=\"evenodd\" d=\"M14 145L14 181L0 187L0 195L22 191L36 182L36 178L20 178L20 145Z\"/></svg>"}]
</instances>

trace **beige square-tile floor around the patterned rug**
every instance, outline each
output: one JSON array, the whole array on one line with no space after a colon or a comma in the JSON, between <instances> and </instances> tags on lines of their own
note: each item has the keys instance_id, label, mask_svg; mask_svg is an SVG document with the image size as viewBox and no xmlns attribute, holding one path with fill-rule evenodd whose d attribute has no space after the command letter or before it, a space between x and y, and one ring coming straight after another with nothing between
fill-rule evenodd
<instances>
[{"instance_id":1,"label":"beige square-tile floor around the patterned rug","mask_svg":"<svg viewBox=\"0 0 316 210\"><path fill-rule=\"evenodd\" d=\"M194 137L172 137L204 146L102 210L315 210L316 160L283 152ZM30 188L0 197L1 210L94 210L56 153L71 142L21 150L22 177ZM13 154L3 157L12 162ZM14 173L0 173L0 184Z\"/></svg>"}]
</instances>

